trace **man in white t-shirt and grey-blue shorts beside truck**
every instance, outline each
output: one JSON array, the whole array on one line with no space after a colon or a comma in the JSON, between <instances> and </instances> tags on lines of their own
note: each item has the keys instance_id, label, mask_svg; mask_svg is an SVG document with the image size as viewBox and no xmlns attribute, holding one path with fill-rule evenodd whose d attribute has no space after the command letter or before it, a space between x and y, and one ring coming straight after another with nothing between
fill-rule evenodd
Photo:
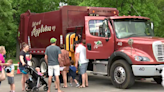
<instances>
[{"instance_id":1,"label":"man in white t-shirt and grey-blue shorts beside truck","mask_svg":"<svg viewBox=\"0 0 164 92\"><path fill-rule=\"evenodd\" d=\"M77 67L79 64L79 72L82 75L82 85L79 88L88 87L88 75L86 73L89 60L86 58L86 47L80 44L78 41L75 42L76 51L75 58Z\"/></svg>"}]
</instances>

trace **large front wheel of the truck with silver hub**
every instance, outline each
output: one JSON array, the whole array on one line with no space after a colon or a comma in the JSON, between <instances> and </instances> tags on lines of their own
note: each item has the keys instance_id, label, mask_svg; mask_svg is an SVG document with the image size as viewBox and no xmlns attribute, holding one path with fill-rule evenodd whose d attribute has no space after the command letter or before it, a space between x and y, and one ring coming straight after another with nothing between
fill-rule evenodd
<instances>
[{"instance_id":1,"label":"large front wheel of the truck with silver hub","mask_svg":"<svg viewBox=\"0 0 164 92\"><path fill-rule=\"evenodd\" d=\"M121 89L133 86L135 77L130 65L125 60L115 61L110 69L112 84Z\"/></svg>"}]
</instances>

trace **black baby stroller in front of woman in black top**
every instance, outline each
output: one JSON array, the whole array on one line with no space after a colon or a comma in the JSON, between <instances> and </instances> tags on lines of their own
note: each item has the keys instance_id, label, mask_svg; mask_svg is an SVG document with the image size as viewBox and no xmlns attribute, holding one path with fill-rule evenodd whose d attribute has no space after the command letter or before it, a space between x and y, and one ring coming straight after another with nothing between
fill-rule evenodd
<instances>
[{"instance_id":1,"label":"black baby stroller in front of woman in black top","mask_svg":"<svg viewBox=\"0 0 164 92\"><path fill-rule=\"evenodd\" d=\"M35 69L33 69L30 66L26 66L26 69L24 71L32 76L28 80L26 80L26 84L27 84L25 88L26 92L30 92L30 91L39 92L39 88L42 87L43 85L45 85L43 87L44 91L48 90L48 84L44 80L44 77L38 75Z\"/></svg>"}]
</instances>

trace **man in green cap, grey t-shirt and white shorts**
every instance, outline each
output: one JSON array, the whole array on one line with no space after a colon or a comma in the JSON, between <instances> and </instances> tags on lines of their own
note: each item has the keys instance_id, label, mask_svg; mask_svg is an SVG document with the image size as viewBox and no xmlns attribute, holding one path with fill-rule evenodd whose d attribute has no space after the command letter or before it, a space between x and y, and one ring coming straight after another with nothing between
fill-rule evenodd
<instances>
[{"instance_id":1,"label":"man in green cap, grey t-shirt and white shorts","mask_svg":"<svg viewBox=\"0 0 164 92\"><path fill-rule=\"evenodd\" d=\"M55 74L55 79L56 79L56 84L58 88L58 92L63 92L60 90L59 86L59 75L60 75L60 66L59 66L59 61L58 58L61 58L61 50L58 46L56 46L56 39L51 38L50 43L51 45L46 48L45 51L45 61L48 63L48 91L50 92L50 87L51 87L51 80L53 74Z\"/></svg>"}]
</instances>

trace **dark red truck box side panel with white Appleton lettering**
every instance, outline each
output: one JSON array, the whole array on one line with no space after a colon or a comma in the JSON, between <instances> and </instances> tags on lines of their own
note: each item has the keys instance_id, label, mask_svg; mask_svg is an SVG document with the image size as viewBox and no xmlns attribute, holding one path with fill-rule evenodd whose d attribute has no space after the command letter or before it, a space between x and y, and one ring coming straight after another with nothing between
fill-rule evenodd
<instances>
[{"instance_id":1,"label":"dark red truck box side panel with white Appleton lettering","mask_svg":"<svg viewBox=\"0 0 164 92\"><path fill-rule=\"evenodd\" d=\"M28 43L31 48L46 48L50 45L50 38L57 39L60 43L62 34L60 11L52 11L31 15L28 25Z\"/></svg>"}]
</instances>

